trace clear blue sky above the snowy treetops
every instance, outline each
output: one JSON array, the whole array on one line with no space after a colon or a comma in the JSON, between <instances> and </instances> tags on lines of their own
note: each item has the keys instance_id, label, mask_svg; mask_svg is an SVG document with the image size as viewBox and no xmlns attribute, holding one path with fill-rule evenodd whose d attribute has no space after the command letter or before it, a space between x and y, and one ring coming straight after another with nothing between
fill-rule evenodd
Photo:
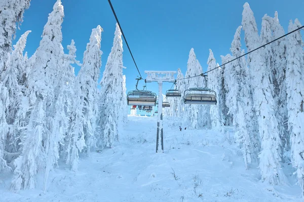
<instances>
[{"instance_id":1,"label":"clear blue sky above the snowy treetops","mask_svg":"<svg viewBox=\"0 0 304 202\"><path fill-rule=\"evenodd\" d=\"M74 39L77 59L82 62L83 53L89 41L92 28L103 28L101 50L101 76L111 50L116 20L107 0L61 0L64 7L62 24L64 52ZM32 0L24 13L24 22L17 31L16 40L26 30L28 35L25 51L31 56L39 46L43 27L52 12L56 0ZM177 70L186 72L187 59L193 47L197 59L207 69L209 48L217 63L220 55L229 54L234 33L242 22L242 11L248 2L260 31L264 14L271 17L278 11L281 25L287 33L289 20L298 18L304 24L303 0L112 0L138 68L145 78L144 70ZM244 37L244 33L242 33ZM302 32L304 35L304 31ZM14 41L14 43L16 42ZM127 90L135 88L138 75L132 58L124 43L124 74ZM243 44L244 45L244 44ZM79 69L75 69L77 74ZM141 87L144 82L141 82ZM172 84L165 84L170 88ZM149 90L158 90L157 83L148 83Z\"/></svg>"}]
</instances>

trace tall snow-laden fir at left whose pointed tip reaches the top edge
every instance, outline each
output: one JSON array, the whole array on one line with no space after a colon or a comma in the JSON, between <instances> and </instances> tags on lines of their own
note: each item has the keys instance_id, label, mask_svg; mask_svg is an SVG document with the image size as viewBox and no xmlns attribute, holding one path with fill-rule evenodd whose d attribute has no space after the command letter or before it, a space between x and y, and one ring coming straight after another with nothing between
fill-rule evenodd
<instances>
[{"instance_id":1,"label":"tall snow-laden fir at left whose pointed tip reaches the top edge","mask_svg":"<svg viewBox=\"0 0 304 202\"><path fill-rule=\"evenodd\" d=\"M59 158L58 148L62 133L54 132L60 117L56 112L57 79L63 65L61 45L63 6L58 0L44 27L40 46L35 52L35 62L28 75L25 92L29 99L25 126L21 135L21 155L15 160L13 188L34 188L36 173L46 166L46 177Z\"/></svg>"}]
</instances>

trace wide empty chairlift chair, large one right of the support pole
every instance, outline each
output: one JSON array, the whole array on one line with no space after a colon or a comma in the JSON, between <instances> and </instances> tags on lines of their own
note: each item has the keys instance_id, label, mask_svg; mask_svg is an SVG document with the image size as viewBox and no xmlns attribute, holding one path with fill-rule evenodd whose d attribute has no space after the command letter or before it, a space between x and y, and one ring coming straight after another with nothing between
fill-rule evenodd
<instances>
[{"instance_id":1,"label":"wide empty chairlift chair, large one right of the support pole","mask_svg":"<svg viewBox=\"0 0 304 202\"><path fill-rule=\"evenodd\" d=\"M199 91L201 93L195 93L194 91ZM199 105L216 105L216 92L209 88L189 88L184 92L184 103Z\"/></svg>"}]
</instances>

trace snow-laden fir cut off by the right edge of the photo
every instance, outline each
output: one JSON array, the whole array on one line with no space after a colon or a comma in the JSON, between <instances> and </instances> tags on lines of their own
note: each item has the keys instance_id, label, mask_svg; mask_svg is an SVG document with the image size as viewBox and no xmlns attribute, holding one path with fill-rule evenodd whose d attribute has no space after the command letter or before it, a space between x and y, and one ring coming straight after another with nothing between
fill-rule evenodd
<instances>
[{"instance_id":1,"label":"snow-laden fir cut off by the right edge of the photo","mask_svg":"<svg viewBox=\"0 0 304 202\"><path fill-rule=\"evenodd\" d=\"M288 32L301 27L295 19L289 22ZM300 31L288 36L286 89L288 108L288 128L291 142L291 161L304 196L304 52Z\"/></svg>"}]
</instances>

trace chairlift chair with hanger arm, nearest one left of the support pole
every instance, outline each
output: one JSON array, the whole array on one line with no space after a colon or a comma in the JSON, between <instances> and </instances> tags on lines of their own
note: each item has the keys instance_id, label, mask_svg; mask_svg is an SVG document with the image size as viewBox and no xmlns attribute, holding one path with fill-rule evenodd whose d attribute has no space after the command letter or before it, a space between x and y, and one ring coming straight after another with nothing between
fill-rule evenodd
<instances>
[{"instance_id":1,"label":"chairlift chair with hanger arm, nearest one left of the support pole","mask_svg":"<svg viewBox=\"0 0 304 202\"><path fill-rule=\"evenodd\" d=\"M138 81L141 78L137 78L136 89L129 91L127 95L128 105L132 106L155 106L157 96L156 93L148 90L138 90Z\"/></svg>"}]
</instances>

